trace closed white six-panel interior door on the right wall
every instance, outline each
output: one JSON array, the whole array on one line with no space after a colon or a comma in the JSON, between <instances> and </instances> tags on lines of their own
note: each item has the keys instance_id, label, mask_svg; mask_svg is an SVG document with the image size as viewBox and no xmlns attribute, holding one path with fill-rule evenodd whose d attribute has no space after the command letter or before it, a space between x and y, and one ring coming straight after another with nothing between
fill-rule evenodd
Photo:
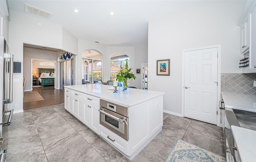
<instances>
[{"instance_id":1,"label":"closed white six-panel interior door on the right wall","mask_svg":"<svg viewBox=\"0 0 256 162\"><path fill-rule=\"evenodd\" d=\"M184 116L217 124L218 48L184 52Z\"/></svg>"}]
</instances>

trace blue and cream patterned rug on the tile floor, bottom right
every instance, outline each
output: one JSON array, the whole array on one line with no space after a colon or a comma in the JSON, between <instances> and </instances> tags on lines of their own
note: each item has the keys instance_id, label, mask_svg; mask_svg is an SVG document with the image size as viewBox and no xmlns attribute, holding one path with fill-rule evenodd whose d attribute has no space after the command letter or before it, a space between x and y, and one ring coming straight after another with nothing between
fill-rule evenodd
<instances>
[{"instance_id":1,"label":"blue and cream patterned rug on the tile floor, bottom right","mask_svg":"<svg viewBox=\"0 0 256 162\"><path fill-rule=\"evenodd\" d=\"M166 162L226 162L226 158L183 140L177 140Z\"/></svg>"}]
</instances>

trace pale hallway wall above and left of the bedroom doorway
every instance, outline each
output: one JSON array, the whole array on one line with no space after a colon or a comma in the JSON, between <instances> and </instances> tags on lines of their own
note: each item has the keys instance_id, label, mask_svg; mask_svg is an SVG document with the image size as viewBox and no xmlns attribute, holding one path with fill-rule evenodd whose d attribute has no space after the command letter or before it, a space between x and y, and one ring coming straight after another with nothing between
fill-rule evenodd
<instances>
[{"instance_id":1,"label":"pale hallway wall above and left of the bedroom doorway","mask_svg":"<svg viewBox=\"0 0 256 162\"><path fill-rule=\"evenodd\" d=\"M57 52L24 47L23 77L27 78L27 81L25 84L25 90L32 90L32 85L31 85L32 71L31 71L31 66L30 66L31 59L57 61ZM34 66L34 64L33 64L33 66Z\"/></svg>"}]
</instances>

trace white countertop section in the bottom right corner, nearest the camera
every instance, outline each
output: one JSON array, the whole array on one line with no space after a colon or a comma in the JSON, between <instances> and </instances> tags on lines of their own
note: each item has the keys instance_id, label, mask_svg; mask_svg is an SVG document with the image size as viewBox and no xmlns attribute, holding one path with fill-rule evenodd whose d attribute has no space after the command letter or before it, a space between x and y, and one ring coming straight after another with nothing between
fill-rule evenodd
<instances>
[{"instance_id":1,"label":"white countertop section in the bottom right corner, nearest the camera","mask_svg":"<svg viewBox=\"0 0 256 162\"><path fill-rule=\"evenodd\" d=\"M256 162L256 131L238 126L231 126L242 162Z\"/></svg>"}]
</instances>

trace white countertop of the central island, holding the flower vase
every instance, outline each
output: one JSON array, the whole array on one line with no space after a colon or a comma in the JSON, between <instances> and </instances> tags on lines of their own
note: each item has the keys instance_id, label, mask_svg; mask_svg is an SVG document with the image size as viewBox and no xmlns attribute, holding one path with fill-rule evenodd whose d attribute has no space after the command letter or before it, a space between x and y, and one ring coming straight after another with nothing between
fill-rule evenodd
<instances>
[{"instance_id":1,"label":"white countertop of the central island, holding the flower vase","mask_svg":"<svg viewBox=\"0 0 256 162\"><path fill-rule=\"evenodd\" d=\"M129 107L165 94L165 92L135 88L127 88L128 94L123 94L123 87L117 87L118 92L113 93L113 90L108 89L113 86L104 84L82 84L64 87Z\"/></svg>"}]
</instances>

